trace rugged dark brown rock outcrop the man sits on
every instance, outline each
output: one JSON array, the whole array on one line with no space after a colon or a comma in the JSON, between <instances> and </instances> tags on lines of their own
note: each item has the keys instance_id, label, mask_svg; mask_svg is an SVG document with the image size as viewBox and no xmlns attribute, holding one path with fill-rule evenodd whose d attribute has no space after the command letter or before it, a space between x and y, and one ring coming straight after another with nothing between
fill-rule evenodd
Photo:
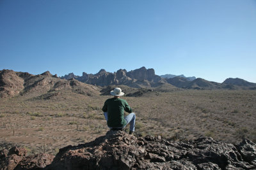
<instances>
[{"instance_id":1,"label":"rugged dark brown rock outcrop the man sits on","mask_svg":"<svg viewBox=\"0 0 256 170\"><path fill-rule=\"evenodd\" d=\"M256 145L212 138L176 142L108 131L95 141L26 157L24 148L0 151L0 169L256 169Z\"/></svg>"}]
</instances>

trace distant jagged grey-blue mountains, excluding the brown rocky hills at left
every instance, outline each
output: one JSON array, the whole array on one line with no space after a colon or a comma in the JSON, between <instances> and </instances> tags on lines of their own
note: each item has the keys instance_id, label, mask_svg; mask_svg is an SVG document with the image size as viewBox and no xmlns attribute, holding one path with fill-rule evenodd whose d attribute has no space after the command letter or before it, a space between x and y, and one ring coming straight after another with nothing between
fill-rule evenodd
<instances>
[{"instance_id":1,"label":"distant jagged grey-blue mountains, excluding the brown rocky hills at left","mask_svg":"<svg viewBox=\"0 0 256 170\"><path fill-rule=\"evenodd\" d=\"M146 69L141 67L132 71L126 71L125 69L119 69L114 73L109 73L104 69L100 69L97 74L87 74L83 72L82 76L76 76L74 73L69 73L62 76L63 79L74 78L92 85L98 85L100 87L108 85L127 85L134 88L156 88L163 87L168 83L169 88L182 88L182 89L255 89L256 83L250 83L240 78L227 78L223 83L217 83L214 81L207 81L202 78L186 77L183 74L175 76L173 74L165 74L163 76L157 76L154 69Z\"/></svg>"}]
</instances>

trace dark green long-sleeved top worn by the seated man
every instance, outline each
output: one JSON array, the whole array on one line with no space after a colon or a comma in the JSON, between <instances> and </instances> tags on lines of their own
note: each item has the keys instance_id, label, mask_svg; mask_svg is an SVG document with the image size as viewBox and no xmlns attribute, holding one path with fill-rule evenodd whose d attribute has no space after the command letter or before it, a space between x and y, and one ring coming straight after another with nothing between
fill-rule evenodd
<instances>
[{"instance_id":1,"label":"dark green long-sleeved top worn by the seated man","mask_svg":"<svg viewBox=\"0 0 256 170\"><path fill-rule=\"evenodd\" d=\"M102 111L108 112L108 127L124 127L127 124L124 119L124 111L132 113L127 101L116 97L107 99Z\"/></svg>"}]
</instances>

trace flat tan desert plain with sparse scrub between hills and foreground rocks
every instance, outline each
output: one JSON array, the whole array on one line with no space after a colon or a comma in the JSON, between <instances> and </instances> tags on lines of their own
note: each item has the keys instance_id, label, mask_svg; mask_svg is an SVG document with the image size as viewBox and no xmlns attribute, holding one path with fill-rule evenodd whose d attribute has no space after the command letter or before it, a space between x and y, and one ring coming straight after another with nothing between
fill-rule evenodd
<instances>
[{"instance_id":1,"label":"flat tan desert plain with sparse scrub between hills and foreground rocks","mask_svg":"<svg viewBox=\"0 0 256 170\"><path fill-rule=\"evenodd\" d=\"M108 131L101 108L109 97L70 93L48 100L0 99L0 146L13 143L29 153L54 154L93 141ZM179 90L123 98L136 113L136 136L256 142L256 90Z\"/></svg>"}]
</instances>

